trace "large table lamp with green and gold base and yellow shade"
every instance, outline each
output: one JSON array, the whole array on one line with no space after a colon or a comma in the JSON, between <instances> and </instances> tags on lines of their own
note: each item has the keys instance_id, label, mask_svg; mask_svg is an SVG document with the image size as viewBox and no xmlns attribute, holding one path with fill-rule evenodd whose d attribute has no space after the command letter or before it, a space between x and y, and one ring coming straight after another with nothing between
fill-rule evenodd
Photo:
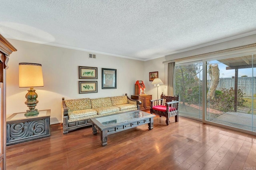
<instances>
[{"instance_id":1,"label":"large table lamp with green and gold base and yellow shade","mask_svg":"<svg viewBox=\"0 0 256 170\"><path fill-rule=\"evenodd\" d=\"M36 116L39 114L38 110L35 109L38 103L37 94L34 87L44 86L42 65L36 63L19 63L19 87L30 87L26 94L27 101L25 104L28 109L25 113L26 117Z\"/></svg>"}]
</instances>

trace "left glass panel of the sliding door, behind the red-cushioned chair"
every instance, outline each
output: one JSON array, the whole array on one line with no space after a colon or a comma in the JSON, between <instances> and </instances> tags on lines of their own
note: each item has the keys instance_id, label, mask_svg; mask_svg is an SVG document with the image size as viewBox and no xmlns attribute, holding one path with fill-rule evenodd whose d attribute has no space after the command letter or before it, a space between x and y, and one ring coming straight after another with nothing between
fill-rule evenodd
<instances>
[{"instance_id":1,"label":"left glass panel of the sliding door, behind the red-cushioned chair","mask_svg":"<svg viewBox=\"0 0 256 170\"><path fill-rule=\"evenodd\" d=\"M180 95L181 116L202 120L202 62L175 66L175 94Z\"/></svg>"}]
</instances>

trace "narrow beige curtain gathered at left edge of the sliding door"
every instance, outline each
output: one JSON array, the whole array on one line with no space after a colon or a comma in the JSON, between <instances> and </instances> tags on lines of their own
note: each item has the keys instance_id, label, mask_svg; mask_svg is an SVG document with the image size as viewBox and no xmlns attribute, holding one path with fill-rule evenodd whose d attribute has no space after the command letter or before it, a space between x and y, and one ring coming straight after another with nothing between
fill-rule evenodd
<instances>
[{"instance_id":1,"label":"narrow beige curtain gathered at left edge of the sliding door","mask_svg":"<svg viewBox=\"0 0 256 170\"><path fill-rule=\"evenodd\" d=\"M168 63L167 95L174 96L175 62Z\"/></svg>"}]
</instances>

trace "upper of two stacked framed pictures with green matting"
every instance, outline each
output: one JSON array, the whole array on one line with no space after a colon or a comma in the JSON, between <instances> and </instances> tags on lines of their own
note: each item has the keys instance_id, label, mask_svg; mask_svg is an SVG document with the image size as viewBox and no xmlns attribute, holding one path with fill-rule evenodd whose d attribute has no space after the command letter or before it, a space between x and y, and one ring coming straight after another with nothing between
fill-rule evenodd
<instances>
[{"instance_id":1,"label":"upper of two stacked framed pictures with green matting","mask_svg":"<svg viewBox=\"0 0 256 170\"><path fill-rule=\"evenodd\" d=\"M98 79L97 67L78 66L79 79Z\"/></svg>"}]
</instances>

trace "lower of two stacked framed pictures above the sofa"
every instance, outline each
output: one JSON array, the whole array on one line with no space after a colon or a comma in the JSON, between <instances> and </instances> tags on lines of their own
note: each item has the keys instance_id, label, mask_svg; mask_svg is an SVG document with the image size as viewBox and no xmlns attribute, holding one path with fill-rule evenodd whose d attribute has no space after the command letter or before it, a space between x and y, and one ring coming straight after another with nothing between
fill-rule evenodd
<instances>
[{"instance_id":1,"label":"lower of two stacked framed pictures above the sofa","mask_svg":"<svg viewBox=\"0 0 256 170\"><path fill-rule=\"evenodd\" d=\"M79 81L79 94L98 93L98 81Z\"/></svg>"}]
</instances>

